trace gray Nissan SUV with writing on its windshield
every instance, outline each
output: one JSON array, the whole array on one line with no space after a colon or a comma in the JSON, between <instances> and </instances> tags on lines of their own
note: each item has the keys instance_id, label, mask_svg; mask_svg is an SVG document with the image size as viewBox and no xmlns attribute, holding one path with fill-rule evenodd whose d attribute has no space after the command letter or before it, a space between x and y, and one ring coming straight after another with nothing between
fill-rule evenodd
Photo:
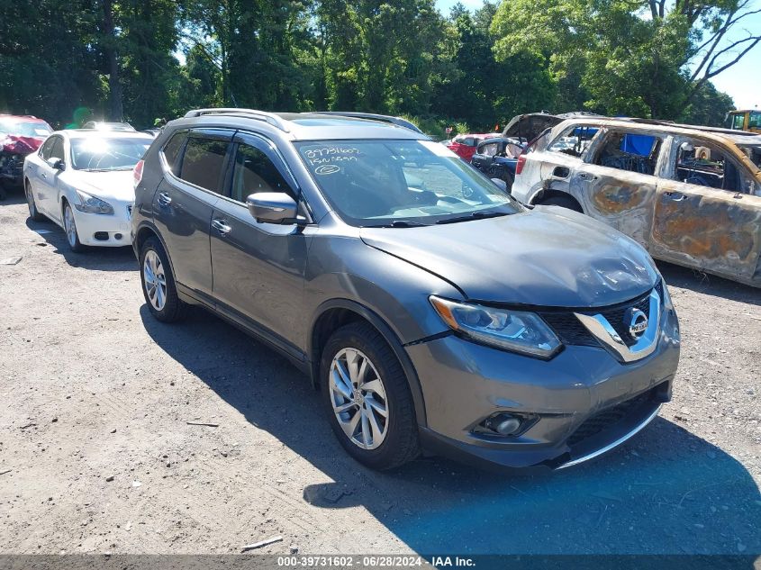
<instances>
[{"instance_id":1,"label":"gray Nissan SUV with writing on its windshield","mask_svg":"<svg viewBox=\"0 0 761 570\"><path fill-rule=\"evenodd\" d=\"M419 132L197 110L134 174L150 312L201 305L279 350L367 466L571 466L671 397L679 326L645 249Z\"/></svg>"}]
</instances>

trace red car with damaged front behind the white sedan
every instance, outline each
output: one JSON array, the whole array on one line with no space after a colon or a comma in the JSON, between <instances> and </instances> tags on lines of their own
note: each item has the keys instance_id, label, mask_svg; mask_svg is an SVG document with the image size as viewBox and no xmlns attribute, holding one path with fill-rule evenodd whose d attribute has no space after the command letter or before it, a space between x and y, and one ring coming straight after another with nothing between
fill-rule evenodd
<instances>
[{"instance_id":1,"label":"red car with damaged front behind the white sedan","mask_svg":"<svg viewBox=\"0 0 761 570\"><path fill-rule=\"evenodd\" d=\"M32 115L0 114L0 197L4 186L22 185L23 158L39 149L52 131Z\"/></svg>"}]
</instances>

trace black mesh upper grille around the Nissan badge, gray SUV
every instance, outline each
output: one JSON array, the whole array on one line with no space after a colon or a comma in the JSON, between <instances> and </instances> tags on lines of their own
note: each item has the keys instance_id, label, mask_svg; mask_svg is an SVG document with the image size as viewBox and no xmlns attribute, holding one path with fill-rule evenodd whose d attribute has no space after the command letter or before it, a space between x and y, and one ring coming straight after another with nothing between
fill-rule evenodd
<instances>
[{"instance_id":1,"label":"black mesh upper grille around the Nissan badge, gray SUV","mask_svg":"<svg viewBox=\"0 0 761 570\"><path fill-rule=\"evenodd\" d=\"M663 302L663 282L658 281L655 289L657 294L660 295L661 302ZM631 347L636 342L631 338L629 333L629 327L624 322L623 316L630 307L636 307L639 311L644 312L650 318L650 293L643 294L633 301L628 303L621 303L610 308L596 309L593 311L580 311L586 314L602 314L602 316L611 323L613 329L619 334L621 340L628 347ZM541 312L539 313L548 323L550 328L555 331L557 338L563 344L567 345L581 345L587 347L598 347L600 343L594 338L594 335L584 327L581 321L579 321L573 312L553 311L553 312Z\"/></svg>"}]
</instances>

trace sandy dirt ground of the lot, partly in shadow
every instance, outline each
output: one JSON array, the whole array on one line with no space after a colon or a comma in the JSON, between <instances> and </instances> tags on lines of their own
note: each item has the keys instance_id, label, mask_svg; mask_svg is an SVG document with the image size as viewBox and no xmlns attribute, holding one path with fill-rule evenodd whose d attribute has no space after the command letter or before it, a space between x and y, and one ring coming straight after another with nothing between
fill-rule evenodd
<instances>
[{"instance_id":1,"label":"sandy dirt ground of the lot, partly in shadow","mask_svg":"<svg viewBox=\"0 0 761 570\"><path fill-rule=\"evenodd\" d=\"M306 378L201 310L150 318L131 249L0 203L0 553L761 554L761 291L662 264L674 401L542 476L353 462ZM218 424L189 425L187 421Z\"/></svg>"}]
</instances>

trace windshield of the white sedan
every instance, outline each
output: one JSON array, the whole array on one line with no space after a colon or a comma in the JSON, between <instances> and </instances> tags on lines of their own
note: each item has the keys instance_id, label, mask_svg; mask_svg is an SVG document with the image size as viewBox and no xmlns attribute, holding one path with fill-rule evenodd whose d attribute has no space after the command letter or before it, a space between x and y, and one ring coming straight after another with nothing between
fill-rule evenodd
<instances>
[{"instance_id":1,"label":"windshield of the white sedan","mask_svg":"<svg viewBox=\"0 0 761 570\"><path fill-rule=\"evenodd\" d=\"M76 170L131 170L151 139L87 137L71 140L71 164Z\"/></svg>"}]
</instances>

